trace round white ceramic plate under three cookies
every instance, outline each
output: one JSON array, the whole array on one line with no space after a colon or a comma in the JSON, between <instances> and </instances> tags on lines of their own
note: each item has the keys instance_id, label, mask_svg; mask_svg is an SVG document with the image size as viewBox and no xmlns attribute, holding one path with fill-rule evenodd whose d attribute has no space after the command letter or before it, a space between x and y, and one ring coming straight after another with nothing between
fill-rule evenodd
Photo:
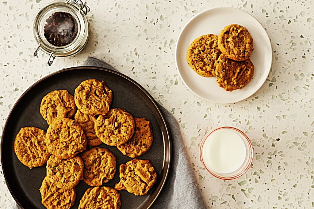
<instances>
[{"instance_id":1,"label":"round white ceramic plate under three cookies","mask_svg":"<svg viewBox=\"0 0 314 209\"><path fill-rule=\"evenodd\" d=\"M194 39L209 33L218 35L230 24L246 27L254 43L250 56L254 64L253 79L243 89L232 92L219 87L215 77L199 76L187 64L187 49ZM230 7L208 9L192 18L179 35L175 54L176 67L186 86L197 96L220 104L239 102L254 94L265 82L272 63L272 48L263 26L252 15Z\"/></svg>"}]
</instances>

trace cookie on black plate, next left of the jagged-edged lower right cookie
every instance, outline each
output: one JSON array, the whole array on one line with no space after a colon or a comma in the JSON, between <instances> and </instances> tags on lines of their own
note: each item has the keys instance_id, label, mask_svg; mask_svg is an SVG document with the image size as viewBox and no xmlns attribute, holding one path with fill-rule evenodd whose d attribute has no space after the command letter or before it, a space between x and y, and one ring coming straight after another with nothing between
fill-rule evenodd
<instances>
[{"instance_id":1,"label":"cookie on black plate, next left of the jagged-edged lower right cookie","mask_svg":"<svg viewBox=\"0 0 314 209\"><path fill-rule=\"evenodd\" d=\"M84 161L84 182L101 186L113 179L116 173L116 157L108 149L94 147L81 154Z\"/></svg>"}]
</instances>

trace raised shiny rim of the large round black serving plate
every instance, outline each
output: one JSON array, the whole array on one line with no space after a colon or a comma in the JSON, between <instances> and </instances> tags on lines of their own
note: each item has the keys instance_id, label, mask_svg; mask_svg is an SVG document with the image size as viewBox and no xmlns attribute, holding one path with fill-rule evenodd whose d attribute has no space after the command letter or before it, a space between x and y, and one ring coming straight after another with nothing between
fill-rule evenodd
<instances>
[{"instance_id":1,"label":"raised shiny rim of the large round black serving plate","mask_svg":"<svg viewBox=\"0 0 314 209\"><path fill-rule=\"evenodd\" d=\"M12 109L10 110L9 114L8 114L8 117L6 119L6 122L4 124L4 128L3 128L3 132L2 132L2 136L1 136L1 144L0 144L0 150L1 150L1 167L2 167L2 172L3 172L3 177L4 177L4 180L6 182L6 185L8 187L8 190L10 191L14 201L22 208L24 209L24 207L20 204L20 202L17 200L17 198L15 197L13 191L11 190L9 184L8 184L8 180L7 180L7 176L5 174L5 171L3 169L3 138L4 138L4 133L5 133L5 129L7 127L7 124L8 124L8 121L11 117L11 114L12 112L14 111L15 107L17 106L17 104L19 103L19 101L26 95L27 92L29 92L33 87L35 87L38 83L46 80L47 78L51 77L51 76L54 76L56 74L59 74L59 73L62 73L64 71L72 71L72 70L78 70L78 69L93 69L93 70L100 70L100 71L107 71L107 72L110 72L110 73L114 73L118 76L121 76L125 79L127 79L128 81L132 82L133 84L135 84L138 88L140 88L148 97L149 99L154 103L156 109L158 110L158 112L160 113L160 116L164 122L164 125L165 125L165 128L166 128L166 132L167 132L167 135L166 135L166 138L168 139L166 142L168 143L167 145L169 146L169 150L167 152L167 149L165 149L165 160L164 160L164 173L165 173L165 176L161 179L162 181L162 185L159 189L159 191L157 192L157 194L154 196L154 199L153 201L150 203L150 205L147 207L147 208L150 208L154 202L156 201L157 197L160 195L160 192L162 191L164 185L165 185L165 182L167 180L167 177L168 177L168 173L169 173L169 170L170 170L170 164L171 164L171 159L172 159L172 142L171 142L171 135L170 135L170 132L169 132L169 128L168 128L168 125L166 123L166 120L165 120L165 117L164 117L164 114L161 112L161 109L158 105L158 103L154 100L154 98L149 94L149 92L143 88L143 86L141 86L138 82L134 81L132 78L120 73L120 72L117 72L117 71L113 71L113 70L110 70L108 68L102 68L102 67L94 67L94 66L77 66L77 67L69 67L69 68L65 68L65 69L62 69L62 70L59 70L59 71L56 71L56 72L53 72L43 78L41 78L40 80L36 81L33 85L31 85L26 91L24 91L24 93L19 97L19 99L14 103L14 106L12 107ZM166 172L165 172L166 170Z\"/></svg>"}]
</instances>

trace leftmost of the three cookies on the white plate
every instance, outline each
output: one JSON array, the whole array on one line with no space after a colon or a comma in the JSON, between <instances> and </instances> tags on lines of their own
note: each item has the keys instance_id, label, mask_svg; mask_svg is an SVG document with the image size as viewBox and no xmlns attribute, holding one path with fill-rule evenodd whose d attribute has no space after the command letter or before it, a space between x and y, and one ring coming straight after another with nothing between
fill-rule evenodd
<instances>
[{"instance_id":1,"label":"leftmost of the three cookies on the white plate","mask_svg":"<svg viewBox=\"0 0 314 209\"><path fill-rule=\"evenodd\" d=\"M218 36L202 35L195 39L187 50L187 63L200 76L215 76L216 61L221 52L218 49Z\"/></svg>"}]
</instances>

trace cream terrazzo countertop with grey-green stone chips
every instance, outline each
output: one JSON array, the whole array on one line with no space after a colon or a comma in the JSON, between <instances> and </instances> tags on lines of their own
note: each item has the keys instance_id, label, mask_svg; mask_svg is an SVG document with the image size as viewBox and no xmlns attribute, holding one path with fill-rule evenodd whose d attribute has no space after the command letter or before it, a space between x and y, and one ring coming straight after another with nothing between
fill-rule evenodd
<instances>
[{"instance_id":1,"label":"cream terrazzo countertop with grey-green stone chips","mask_svg":"<svg viewBox=\"0 0 314 209\"><path fill-rule=\"evenodd\" d=\"M32 24L49 2L0 1L0 134L15 101L35 81L95 56L138 81L177 118L208 208L314 207L314 1L89 0L87 48L48 67L46 55L33 57ZM252 14L273 48L272 69L262 88L231 105L206 102L188 91L174 58L187 21L219 6ZM251 168L229 181L211 176L199 158L204 134L225 125L243 130L254 147ZM13 202L1 171L0 208L11 208Z\"/></svg>"}]
</instances>

